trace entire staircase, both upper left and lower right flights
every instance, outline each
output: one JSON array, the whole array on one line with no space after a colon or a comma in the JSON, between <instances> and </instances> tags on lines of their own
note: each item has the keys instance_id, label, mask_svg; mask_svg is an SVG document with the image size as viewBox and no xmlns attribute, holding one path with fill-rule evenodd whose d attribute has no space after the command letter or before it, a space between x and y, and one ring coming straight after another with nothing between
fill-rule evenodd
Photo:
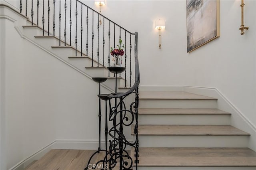
<instances>
[{"instance_id":1,"label":"entire staircase, both upper left and lower right flights","mask_svg":"<svg viewBox=\"0 0 256 170\"><path fill-rule=\"evenodd\" d=\"M26 38L88 77L108 77L104 86L114 91L115 77L106 63L56 36L47 36L29 20L26 23L22 26ZM127 77L118 75L119 91L125 92L133 84ZM256 152L247 148L250 134L230 125L231 114L217 109L216 98L186 92L140 92L139 103L139 170L255 170ZM131 134L136 136L134 126ZM134 154L132 149L130 155Z\"/></svg>"}]
</instances>

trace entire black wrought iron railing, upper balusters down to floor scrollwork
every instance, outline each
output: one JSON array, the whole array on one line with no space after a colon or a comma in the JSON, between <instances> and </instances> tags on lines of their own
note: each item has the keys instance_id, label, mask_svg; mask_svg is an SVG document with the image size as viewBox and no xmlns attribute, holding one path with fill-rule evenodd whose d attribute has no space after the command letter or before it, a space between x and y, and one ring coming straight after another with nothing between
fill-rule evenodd
<instances>
[{"instance_id":1,"label":"entire black wrought iron railing, upper balusters down to floor scrollwork","mask_svg":"<svg viewBox=\"0 0 256 170\"><path fill-rule=\"evenodd\" d=\"M92 67L100 67L100 65L103 67L107 66L109 69L108 77L110 77L110 72L114 73L116 81L118 74L121 76L121 72L124 71L124 73L122 73L125 79L124 87L131 87L126 93L117 93L116 83L115 93L98 95L100 99L98 115L99 135L101 134L100 101L105 101L105 149L101 149L99 140L99 148L92 154L85 169L90 168L88 167L90 163L94 163L91 162L91 160L95 154L104 152L104 158L94 163L95 166L102 164L102 169L113 169L119 164L120 170L130 170L133 166L137 170L139 163L138 86L140 83L137 32L129 32L79 0L20 0L20 13L22 13L24 4L26 5L26 10L25 12L23 11L23 13L30 17L32 25L42 27L43 36L56 36L59 38L59 46L74 45L76 57L91 57ZM45 5L47 5L47 8L45 8ZM28 14L29 9L31 9L31 15ZM36 9L36 15L34 15L34 9ZM55 12L58 13L58 15L55 15ZM45 17L44 14L48 15ZM63 15L64 19L62 19ZM40 16L42 16L42 22L40 21ZM94 19L95 16L96 19ZM36 21L34 21L34 17L36 17ZM100 18L103 18L102 23L100 22ZM48 20L48 22L46 20ZM69 20L69 23L67 20ZM45 29L46 23L48 24ZM79 27L80 31L78 31ZM84 28L86 28L86 31L84 31ZM78 32L80 32L80 34ZM124 67L110 67L110 46L115 48L116 42L121 39L124 40L123 43L125 47ZM126 47L128 47L128 49ZM134 65L132 64L133 61ZM96 62L96 66L94 62ZM134 70L134 73L132 70ZM134 76L133 85L132 75ZM99 83L100 81L103 82L103 79L98 79L98 81ZM126 83L126 81L129 81L129 83ZM134 97L134 100L128 103L129 100L125 101L128 97ZM107 105L109 112L107 111ZM109 123L111 123L111 127L108 125ZM134 125L134 134L136 135L133 142L127 140L123 133L124 127L130 127L131 125ZM108 135L111 137L109 140ZM131 150L134 149L134 156L129 154L127 146L130 146Z\"/></svg>"}]
</instances>

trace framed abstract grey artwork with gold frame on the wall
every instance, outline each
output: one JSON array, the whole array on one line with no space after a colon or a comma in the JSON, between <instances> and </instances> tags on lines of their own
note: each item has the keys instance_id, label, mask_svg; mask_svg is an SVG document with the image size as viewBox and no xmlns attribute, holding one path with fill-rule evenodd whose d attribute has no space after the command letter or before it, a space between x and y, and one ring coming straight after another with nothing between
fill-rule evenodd
<instances>
[{"instance_id":1,"label":"framed abstract grey artwork with gold frame on the wall","mask_svg":"<svg viewBox=\"0 0 256 170\"><path fill-rule=\"evenodd\" d=\"M187 0L187 52L220 37L220 0Z\"/></svg>"}]
</instances>

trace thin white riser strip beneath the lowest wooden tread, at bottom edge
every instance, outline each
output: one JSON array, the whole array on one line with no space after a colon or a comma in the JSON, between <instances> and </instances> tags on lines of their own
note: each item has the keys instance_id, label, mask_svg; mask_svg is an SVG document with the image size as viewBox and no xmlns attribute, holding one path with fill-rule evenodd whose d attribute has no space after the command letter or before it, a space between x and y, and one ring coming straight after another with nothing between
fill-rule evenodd
<instances>
[{"instance_id":1,"label":"thin white riser strip beneath the lowest wooden tread, at bottom edge","mask_svg":"<svg viewBox=\"0 0 256 170\"><path fill-rule=\"evenodd\" d=\"M138 170L255 170L255 167L138 167Z\"/></svg>"}]
</instances>

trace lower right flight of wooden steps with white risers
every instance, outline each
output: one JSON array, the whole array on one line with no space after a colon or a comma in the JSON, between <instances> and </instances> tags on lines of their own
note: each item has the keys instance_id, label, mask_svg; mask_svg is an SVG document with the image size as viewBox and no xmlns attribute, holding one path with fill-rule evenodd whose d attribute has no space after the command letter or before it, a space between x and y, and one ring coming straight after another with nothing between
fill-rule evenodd
<instances>
[{"instance_id":1,"label":"lower right flight of wooden steps with white risers","mask_svg":"<svg viewBox=\"0 0 256 170\"><path fill-rule=\"evenodd\" d=\"M140 92L139 102L139 170L256 169L256 152L246 148L250 134L230 125L217 99Z\"/></svg>"}]
</instances>

